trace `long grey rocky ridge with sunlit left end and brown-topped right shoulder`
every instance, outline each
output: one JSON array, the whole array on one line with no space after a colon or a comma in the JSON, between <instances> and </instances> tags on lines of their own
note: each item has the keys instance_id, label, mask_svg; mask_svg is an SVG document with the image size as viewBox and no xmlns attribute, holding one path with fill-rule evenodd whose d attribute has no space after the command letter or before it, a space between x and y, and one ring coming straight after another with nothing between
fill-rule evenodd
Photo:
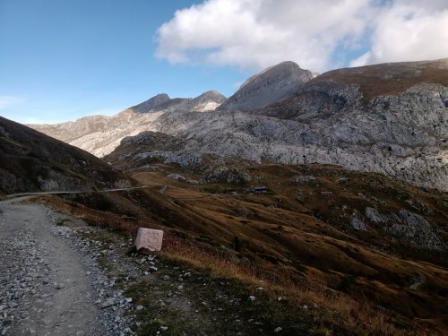
<instances>
[{"instance_id":1,"label":"long grey rocky ridge with sunlit left end and brown-topped right shoulder","mask_svg":"<svg viewBox=\"0 0 448 336\"><path fill-rule=\"evenodd\" d=\"M332 163L448 190L447 111L448 59L372 65L323 73L293 97L250 112L126 111L71 143L104 156L125 136L151 131L168 134L183 148L162 145L146 151L133 148L129 138L120 158L195 168L204 164L204 154L253 162ZM108 156L115 163L120 158Z\"/></svg>"}]
</instances>

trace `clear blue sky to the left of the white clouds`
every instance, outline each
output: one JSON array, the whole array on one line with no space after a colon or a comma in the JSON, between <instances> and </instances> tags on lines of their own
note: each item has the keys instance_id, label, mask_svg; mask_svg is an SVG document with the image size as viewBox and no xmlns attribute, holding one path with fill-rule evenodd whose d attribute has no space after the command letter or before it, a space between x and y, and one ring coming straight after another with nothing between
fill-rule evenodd
<instances>
[{"instance_id":1,"label":"clear blue sky to the left of the white clouds","mask_svg":"<svg viewBox=\"0 0 448 336\"><path fill-rule=\"evenodd\" d=\"M247 73L153 56L157 28L193 3L0 0L0 115L55 123L115 114L160 92L230 95Z\"/></svg>"}]
</instances>

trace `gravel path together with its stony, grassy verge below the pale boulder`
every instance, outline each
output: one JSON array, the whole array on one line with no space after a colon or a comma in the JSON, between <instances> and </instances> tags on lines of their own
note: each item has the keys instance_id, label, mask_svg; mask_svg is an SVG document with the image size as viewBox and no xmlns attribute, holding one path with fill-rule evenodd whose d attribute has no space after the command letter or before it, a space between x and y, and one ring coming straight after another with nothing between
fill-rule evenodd
<instances>
[{"instance_id":1,"label":"gravel path together with its stony, grassy verge below the pale boulder","mask_svg":"<svg viewBox=\"0 0 448 336\"><path fill-rule=\"evenodd\" d=\"M0 336L297 335L314 306L197 269L28 197L0 202ZM273 297L272 295L275 294Z\"/></svg>"}]
</instances>

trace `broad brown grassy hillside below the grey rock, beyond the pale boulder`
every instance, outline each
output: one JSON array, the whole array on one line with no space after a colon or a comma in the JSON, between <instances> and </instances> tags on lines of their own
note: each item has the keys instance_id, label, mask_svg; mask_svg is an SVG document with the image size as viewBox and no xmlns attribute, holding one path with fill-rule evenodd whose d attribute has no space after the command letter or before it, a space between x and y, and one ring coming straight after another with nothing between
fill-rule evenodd
<instances>
[{"instance_id":1,"label":"broad brown grassy hillside below the grey rock, beyond the pale boulder","mask_svg":"<svg viewBox=\"0 0 448 336\"><path fill-rule=\"evenodd\" d=\"M447 330L448 194L316 164L154 170L134 175L146 189L47 202L131 237L162 228L166 257L263 280L292 306L315 303L336 329Z\"/></svg>"}]
</instances>

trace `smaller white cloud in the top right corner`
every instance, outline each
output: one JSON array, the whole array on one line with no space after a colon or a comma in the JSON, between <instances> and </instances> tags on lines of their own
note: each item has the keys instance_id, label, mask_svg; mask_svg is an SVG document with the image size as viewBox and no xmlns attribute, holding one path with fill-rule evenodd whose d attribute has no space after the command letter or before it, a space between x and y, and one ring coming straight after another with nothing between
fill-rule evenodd
<instances>
[{"instance_id":1,"label":"smaller white cloud in the top right corner","mask_svg":"<svg viewBox=\"0 0 448 336\"><path fill-rule=\"evenodd\" d=\"M448 2L394 1L375 21L371 41L351 65L448 57Z\"/></svg>"}]
</instances>

